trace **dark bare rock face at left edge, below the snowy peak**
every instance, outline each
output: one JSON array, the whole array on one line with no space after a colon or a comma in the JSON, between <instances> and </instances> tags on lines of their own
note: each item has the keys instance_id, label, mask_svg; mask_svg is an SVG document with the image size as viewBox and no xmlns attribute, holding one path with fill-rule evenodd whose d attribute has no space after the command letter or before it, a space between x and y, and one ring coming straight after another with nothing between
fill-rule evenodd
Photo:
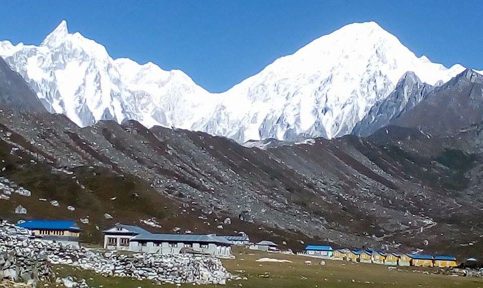
<instances>
[{"instance_id":1,"label":"dark bare rock face at left edge, below the snowy peak","mask_svg":"<svg viewBox=\"0 0 483 288\"><path fill-rule=\"evenodd\" d=\"M0 109L46 112L24 79L0 57Z\"/></svg>"}]
</instances>

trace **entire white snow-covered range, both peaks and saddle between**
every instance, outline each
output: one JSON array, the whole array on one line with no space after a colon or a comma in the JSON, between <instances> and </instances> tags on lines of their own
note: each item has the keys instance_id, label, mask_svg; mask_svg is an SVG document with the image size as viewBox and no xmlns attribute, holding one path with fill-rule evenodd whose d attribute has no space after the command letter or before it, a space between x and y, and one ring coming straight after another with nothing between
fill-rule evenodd
<instances>
[{"instance_id":1,"label":"entire white snow-covered range, both peaks and saddle between","mask_svg":"<svg viewBox=\"0 0 483 288\"><path fill-rule=\"evenodd\" d=\"M239 142L348 134L407 71L436 85L464 70L417 57L374 22L355 23L281 57L224 93L183 71L112 59L65 21L40 46L0 42L0 56L51 112L86 126L100 119L175 126Z\"/></svg>"}]
</instances>

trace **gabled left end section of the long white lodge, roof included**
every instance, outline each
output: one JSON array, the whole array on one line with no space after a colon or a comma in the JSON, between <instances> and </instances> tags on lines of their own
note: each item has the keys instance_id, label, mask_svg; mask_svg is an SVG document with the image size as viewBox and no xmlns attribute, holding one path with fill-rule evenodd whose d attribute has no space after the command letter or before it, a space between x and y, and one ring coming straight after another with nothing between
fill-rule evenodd
<instances>
[{"instance_id":1,"label":"gabled left end section of the long white lodge, roof included","mask_svg":"<svg viewBox=\"0 0 483 288\"><path fill-rule=\"evenodd\" d=\"M129 250L129 243L134 236L140 234L151 234L141 227L116 224L102 232L104 234L104 249Z\"/></svg>"}]
</instances>

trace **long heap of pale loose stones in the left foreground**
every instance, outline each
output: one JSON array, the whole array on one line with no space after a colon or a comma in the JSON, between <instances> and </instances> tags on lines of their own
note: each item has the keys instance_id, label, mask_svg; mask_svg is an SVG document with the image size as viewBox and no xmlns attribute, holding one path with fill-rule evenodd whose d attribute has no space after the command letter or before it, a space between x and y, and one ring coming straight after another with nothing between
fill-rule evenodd
<instances>
[{"instance_id":1,"label":"long heap of pale loose stones in the left foreground","mask_svg":"<svg viewBox=\"0 0 483 288\"><path fill-rule=\"evenodd\" d=\"M35 263L32 269L19 270L20 274L35 271L42 277L50 275L50 270L44 265L46 261L93 270L105 276L149 279L158 283L224 284L230 277L221 261L211 256L154 253L125 255L75 248L41 240L28 230L4 221L0 222L0 253L7 252L19 255L22 261L29 259L28 263ZM26 264L22 267L30 266Z\"/></svg>"}]
</instances>

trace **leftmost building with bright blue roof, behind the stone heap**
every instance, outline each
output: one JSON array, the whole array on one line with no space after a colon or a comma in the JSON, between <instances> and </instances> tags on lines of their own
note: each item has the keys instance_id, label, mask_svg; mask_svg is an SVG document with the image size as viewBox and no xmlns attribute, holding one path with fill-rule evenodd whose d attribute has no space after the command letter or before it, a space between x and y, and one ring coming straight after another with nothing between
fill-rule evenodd
<instances>
[{"instance_id":1,"label":"leftmost building with bright blue roof, behind the stone heap","mask_svg":"<svg viewBox=\"0 0 483 288\"><path fill-rule=\"evenodd\" d=\"M32 231L34 235L41 236L44 240L74 247L79 246L79 236L82 231L74 221L30 220L17 226Z\"/></svg>"}]
</instances>

